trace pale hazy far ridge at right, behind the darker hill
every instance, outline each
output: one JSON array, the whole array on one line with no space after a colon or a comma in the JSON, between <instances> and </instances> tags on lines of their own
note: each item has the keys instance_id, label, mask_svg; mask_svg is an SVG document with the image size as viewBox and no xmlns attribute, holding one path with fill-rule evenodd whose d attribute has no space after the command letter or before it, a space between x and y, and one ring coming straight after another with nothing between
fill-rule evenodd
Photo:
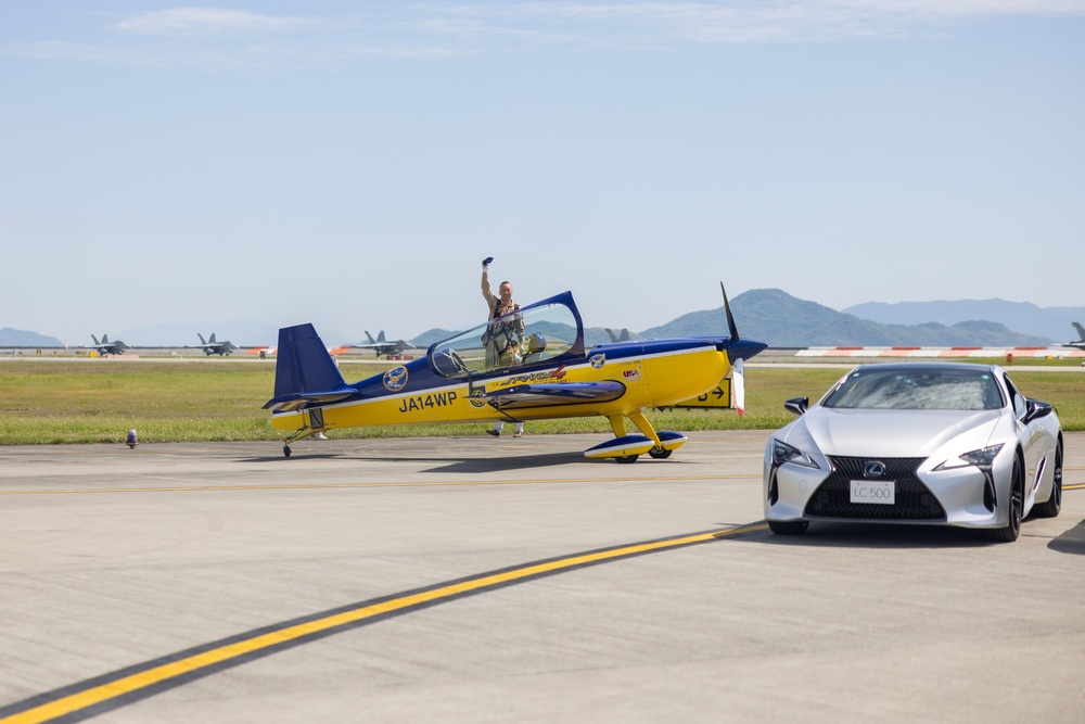
<instances>
[{"instance_id":1,"label":"pale hazy far ridge at right, behind the darker hill","mask_svg":"<svg viewBox=\"0 0 1085 724\"><path fill-rule=\"evenodd\" d=\"M1077 338L1070 322L1085 323L1085 307L1038 307L1031 302L961 300L958 302L868 302L844 309L860 319L883 325L957 325L970 319L998 322L1007 329L1046 342Z\"/></svg>"}]
</instances>

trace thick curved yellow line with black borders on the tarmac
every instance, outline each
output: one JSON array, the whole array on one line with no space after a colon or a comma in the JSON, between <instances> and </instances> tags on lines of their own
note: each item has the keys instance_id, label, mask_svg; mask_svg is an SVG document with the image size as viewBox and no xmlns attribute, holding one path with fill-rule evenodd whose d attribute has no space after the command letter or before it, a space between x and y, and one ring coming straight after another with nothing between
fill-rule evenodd
<instances>
[{"instance_id":1,"label":"thick curved yellow line with black borders on the tarmac","mask_svg":"<svg viewBox=\"0 0 1085 724\"><path fill-rule=\"evenodd\" d=\"M214 642L0 707L0 724L87 719L253 659L384 619L546 575L763 531L765 522L574 554L363 601Z\"/></svg>"}]
</instances>

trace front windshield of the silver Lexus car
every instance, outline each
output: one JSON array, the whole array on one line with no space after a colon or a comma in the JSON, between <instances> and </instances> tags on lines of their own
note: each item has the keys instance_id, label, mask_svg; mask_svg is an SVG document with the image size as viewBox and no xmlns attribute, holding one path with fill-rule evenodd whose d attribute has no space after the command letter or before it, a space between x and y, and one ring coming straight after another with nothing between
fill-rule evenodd
<instances>
[{"instance_id":1,"label":"front windshield of the silver Lexus car","mask_svg":"<svg viewBox=\"0 0 1085 724\"><path fill-rule=\"evenodd\" d=\"M871 369L848 374L822 407L852 409L998 409L1003 396L986 369Z\"/></svg>"}]
</instances>

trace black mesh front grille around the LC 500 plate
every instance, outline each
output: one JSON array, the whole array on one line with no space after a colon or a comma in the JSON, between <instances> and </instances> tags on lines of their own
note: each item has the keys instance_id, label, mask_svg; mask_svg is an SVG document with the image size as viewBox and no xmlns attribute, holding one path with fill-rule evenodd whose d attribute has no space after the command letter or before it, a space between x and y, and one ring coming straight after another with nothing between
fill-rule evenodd
<instances>
[{"instance_id":1,"label":"black mesh front grille around the LC 500 plate","mask_svg":"<svg viewBox=\"0 0 1085 724\"><path fill-rule=\"evenodd\" d=\"M810 518L861 518L866 520L945 520L946 511L934 494L916 477L926 458L829 457L832 473L806 503ZM896 503L878 505L851 501L851 481L863 480L863 467L870 460L885 463L880 480L896 483Z\"/></svg>"}]
</instances>

